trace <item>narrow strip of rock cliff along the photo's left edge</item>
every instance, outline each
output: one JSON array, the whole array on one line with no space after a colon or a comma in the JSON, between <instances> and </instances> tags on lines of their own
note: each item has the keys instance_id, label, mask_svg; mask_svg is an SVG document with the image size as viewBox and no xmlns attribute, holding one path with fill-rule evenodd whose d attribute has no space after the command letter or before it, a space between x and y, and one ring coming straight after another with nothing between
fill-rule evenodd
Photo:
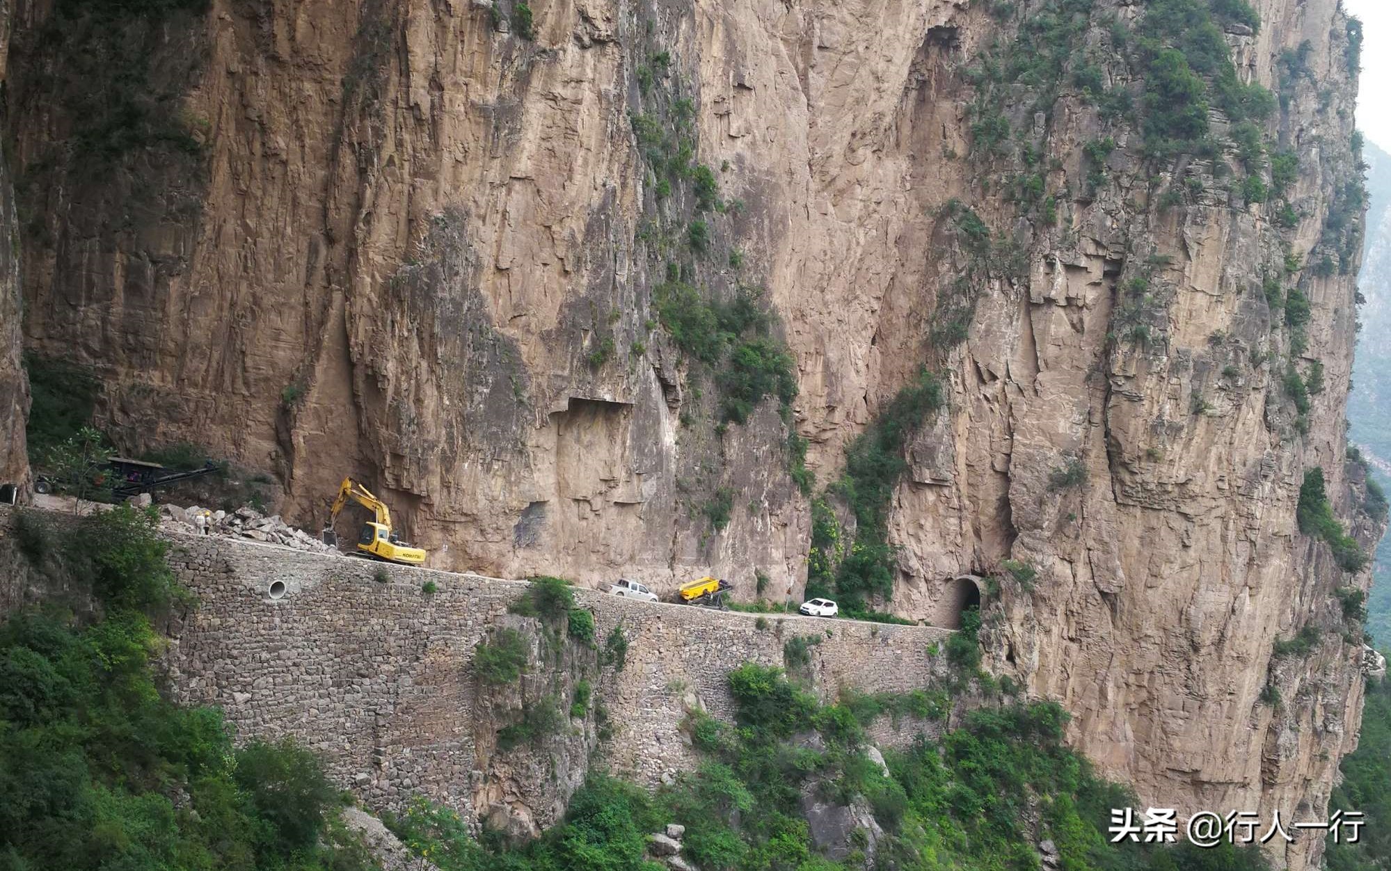
<instances>
[{"instance_id":1,"label":"narrow strip of rock cliff along the photo's left edge","mask_svg":"<svg viewBox=\"0 0 1391 871\"><path fill-rule=\"evenodd\" d=\"M0 82L8 60L11 4L0 3ZM24 422L29 381L19 360L24 323L19 303L19 221L7 156L0 156L0 498L15 501L29 483Z\"/></svg>"}]
</instances>

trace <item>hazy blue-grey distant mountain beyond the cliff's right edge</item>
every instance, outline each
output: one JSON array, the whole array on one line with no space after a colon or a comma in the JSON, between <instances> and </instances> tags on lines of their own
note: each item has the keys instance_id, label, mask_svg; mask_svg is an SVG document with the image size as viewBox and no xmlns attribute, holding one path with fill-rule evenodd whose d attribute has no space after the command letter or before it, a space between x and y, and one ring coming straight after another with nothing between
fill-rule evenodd
<instances>
[{"instance_id":1,"label":"hazy blue-grey distant mountain beyond the cliff's right edge","mask_svg":"<svg viewBox=\"0 0 1391 871\"><path fill-rule=\"evenodd\" d=\"M1367 302L1362 306L1348 420L1352 441L1366 449L1385 486L1391 483L1391 474L1385 474L1391 463L1391 154L1367 142L1363 159L1369 167L1369 206L1358 285ZM1385 647L1391 644L1391 536L1377 550L1374 576L1367 629Z\"/></svg>"}]
</instances>

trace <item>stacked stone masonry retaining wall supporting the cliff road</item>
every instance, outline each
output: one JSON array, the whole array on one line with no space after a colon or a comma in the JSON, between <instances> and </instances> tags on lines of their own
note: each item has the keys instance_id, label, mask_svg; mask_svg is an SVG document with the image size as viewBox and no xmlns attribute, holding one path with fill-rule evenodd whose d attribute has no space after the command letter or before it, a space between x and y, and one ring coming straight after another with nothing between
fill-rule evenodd
<instances>
[{"instance_id":1,"label":"stacked stone masonry retaining wall supporting the cliff road","mask_svg":"<svg viewBox=\"0 0 1391 871\"><path fill-rule=\"evenodd\" d=\"M466 815L483 778L474 753L473 648L524 582L306 554L250 541L172 537L171 564L198 607L171 625L170 686L188 704L220 705L239 737L294 735L334 779L373 807L423 793ZM377 580L385 570L388 580ZM271 586L280 598L273 598ZM434 593L424 583L434 582ZM597 701L611 737L597 758L655 785L696 761L680 724L693 705L730 719L725 675L741 662L783 665L783 643L817 633L810 676L840 687L904 692L940 673L949 630L796 615L722 612L576 591L595 634L620 626L626 665L602 669ZM908 740L921 724L876 737ZM545 825L549 813L537 813Z\"/></svg>"}]
</instances>

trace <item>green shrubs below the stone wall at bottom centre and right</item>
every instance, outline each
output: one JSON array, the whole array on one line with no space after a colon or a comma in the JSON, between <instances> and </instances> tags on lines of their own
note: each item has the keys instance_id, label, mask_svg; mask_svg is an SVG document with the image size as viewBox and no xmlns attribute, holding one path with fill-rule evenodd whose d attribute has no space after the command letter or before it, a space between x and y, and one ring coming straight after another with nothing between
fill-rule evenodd
<instances>
[{"instance_id":1,"label":"green shrubs below the stone wall at bottom centre and right","mask_svg":"<svg viewBox=\"0 0 1391 871\"><path fill-rule=\"evenodd\" d=\"M885 772L865 754L869 724L885 714L942 719L944 697L846 693L823 705L782 669L754 664L727 680L736 725L694 712L687 730L704 760L655 794L591 775L559 825L516 847L474 842L458 817L424 801L388 825L442 871L648 871L645 836L666 822L686 826L683 857L711 871L865 867L858 850L842 863L815 852L801 811L803 796L814 796L874 814L885 831L875 867L1038 868L1035 843L1046 838L1070 871L1269 868L1259 850L1111 845L1110 810L1136 800L1066 747L1067 714L1056 704L972 711L939 742L885 753ZM805 740L811 733L819 740Z\"/></svg>"}]
</instances>

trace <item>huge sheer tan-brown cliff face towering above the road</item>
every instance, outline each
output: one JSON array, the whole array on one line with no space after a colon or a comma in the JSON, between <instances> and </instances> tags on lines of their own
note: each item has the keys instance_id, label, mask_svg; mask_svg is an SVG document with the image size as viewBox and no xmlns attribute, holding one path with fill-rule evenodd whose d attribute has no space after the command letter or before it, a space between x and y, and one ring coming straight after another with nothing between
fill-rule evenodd
<instances>
[{"instance_id":1,"label":"huge sheer tan-brown cliff face towering above the road","mask_svg":"<svg viewBox=\"0 0 1391 871\"><path fill-rule=\"evenodd\" d=\"M1214 146L1153 160L1079 70L988 103L979 56L1038 43L1040 1L211 0L128 25L159 135L99 174L58 146L110 129L40 75L64 47L28 10L26 341L102 373L129 447L273 470L300 523L353 473L441 568L746 594L759 568L772 594L804 583L811 532L789 423L765 402L716 426L654 299L761 287L822 480L917 370L944 374L885 607L950 622L953 579L1028 562L1031 589L990 597L995 666L1061 698L1107 774L1185 811L1317 814L1360 711L1334 590L1366 577L1299 534L1305 472L1380 534L1344 468L1355 60L1337 0L1255 6L1217 39L1280 92L1256 134L1296 159L1278 202L1216 107ZM1114 45L1145 4L1067 8L1063 57L1148 106ZM651 120L721 209L664 191ZM1308 319L1278 307L1292 288ZM1301 408L1288 374L1316 363ZM1274 658L1306 625L1313 651Z\"/></svg>"}]
</instances>

